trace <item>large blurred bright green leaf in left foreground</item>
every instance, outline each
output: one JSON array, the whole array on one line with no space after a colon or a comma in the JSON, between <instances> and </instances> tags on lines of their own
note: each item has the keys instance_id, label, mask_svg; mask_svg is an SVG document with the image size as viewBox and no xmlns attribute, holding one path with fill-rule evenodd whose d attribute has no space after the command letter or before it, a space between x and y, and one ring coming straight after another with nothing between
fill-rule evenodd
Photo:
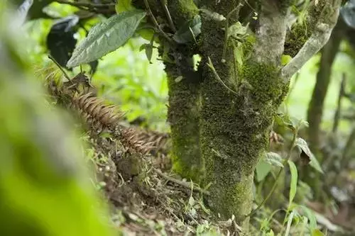
<instances>
[{"instance_id":1,"label":"large blurred bright green leaf in left foreground","mask_svg":"<svg viewBox=\"0 0 355 236\"><path fill-rule=\"evenodd\" d=\"M0 4L0 235L110 235L80 144L33 84Z\"/></svg>"}]
</instances>

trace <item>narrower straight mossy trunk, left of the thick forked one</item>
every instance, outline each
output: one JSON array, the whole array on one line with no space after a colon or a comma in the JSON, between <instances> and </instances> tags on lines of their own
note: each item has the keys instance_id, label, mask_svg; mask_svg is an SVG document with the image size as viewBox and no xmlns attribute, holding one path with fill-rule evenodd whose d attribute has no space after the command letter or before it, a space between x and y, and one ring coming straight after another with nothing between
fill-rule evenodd
<instances>
[{"instance_id":1,"label":"narrower straight mossy trunk, left of the thick forked one","mask_svg":"<svg viewBox=\"0 0 355 236\"><path fill-rule=\"evenodd\" d=\"M176 57L178 58L178 57ZM173 140L173 169L192 181L203 178L200 158L200 77L188 57L167 64L169 108L168 122Z\"/></svg>"}]
</instances>

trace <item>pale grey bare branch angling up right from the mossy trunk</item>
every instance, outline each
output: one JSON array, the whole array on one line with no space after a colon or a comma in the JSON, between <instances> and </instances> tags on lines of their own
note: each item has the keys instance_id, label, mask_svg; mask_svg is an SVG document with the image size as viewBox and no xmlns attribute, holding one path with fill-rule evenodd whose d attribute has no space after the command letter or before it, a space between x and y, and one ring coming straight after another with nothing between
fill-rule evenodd
<instances>
[{"instance_id":1,"label":"pale grey bare branch angling up right from the mossy trunk","mask_svg":"<svg viewBox=\"0 0 355 236\"><path fill-rule=\"evenodd\" d=\"M339 16L339 9L341 0L334 0L333 3L325 4L322 9L315 30L307 40L305 45L300 49L300 52L293 57L293 60L290 61L282 69L282 75L285 78L285 81L288 81L293 74L295 74L310 58L319 52L322 47L327 43L332 33L334 26L337 23Z\"/></svg>"}]
</instances>

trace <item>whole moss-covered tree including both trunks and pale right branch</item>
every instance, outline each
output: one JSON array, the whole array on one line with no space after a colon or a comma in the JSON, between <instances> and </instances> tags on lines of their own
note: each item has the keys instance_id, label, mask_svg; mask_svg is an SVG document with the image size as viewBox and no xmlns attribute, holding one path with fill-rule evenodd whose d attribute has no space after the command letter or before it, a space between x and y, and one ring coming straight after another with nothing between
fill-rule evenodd
<instances>
[{"instance_id":1,"label":"whole moss-covered tree including both trunks and pale right branch","mask_svg":"<svg viewBox=\"0 0 355 236\"><path fill-rule=\"evenodd\" d=\"M148 1L157 6L157 1ZM236 222L247 229L246 216L251 213L253 203L253 173L268 147L275 113L288 92L290 77L327 43L337 21L340 0L317 2L315 29L284 67L281 57L293 1L252 1L258 10L258 27L250 32L248 40L242 40L244 55L250 55L249 59L242 58L243 64L237 63L239 55L234 55L238 39L225 37L226 20L215 16L230 16L229 26L242 21L234 9L244 1L166 2L176 28L198 13L202 19L202 33L197 41L171 46L169 55L175 64L167 63L165 68L175 170L199 179L193 174L197 167L201 168L204 184L211 184L210 208L223 219L234 215ZM195 2L210 13L199 12ZM159 5L153 11L160 18L166 17ZM242 11L251 10L244 6ZM243 12L241 16L250 14ZM194 54L202 57L199 73L192 72ZM177 82L181 76L183 79Z\"/></svg>"}]
</instances>

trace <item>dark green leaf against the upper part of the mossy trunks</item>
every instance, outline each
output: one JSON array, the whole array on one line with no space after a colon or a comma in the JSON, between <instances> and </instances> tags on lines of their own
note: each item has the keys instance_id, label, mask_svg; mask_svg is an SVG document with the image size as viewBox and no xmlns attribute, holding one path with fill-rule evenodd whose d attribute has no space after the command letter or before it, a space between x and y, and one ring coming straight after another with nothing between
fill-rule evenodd
<instances>
[{"instance_id":1,"label":"dark green leaf against the upper part of the mossy trunks","mask_svg":"<svg viewBox=\"0 0 355 236\"><path fill-rule=\"evenodd\" d=\"M201 17L196 15L187 21L173 36L177 43L190 43L201 33Z\"/></svg>"}]
</instances>

